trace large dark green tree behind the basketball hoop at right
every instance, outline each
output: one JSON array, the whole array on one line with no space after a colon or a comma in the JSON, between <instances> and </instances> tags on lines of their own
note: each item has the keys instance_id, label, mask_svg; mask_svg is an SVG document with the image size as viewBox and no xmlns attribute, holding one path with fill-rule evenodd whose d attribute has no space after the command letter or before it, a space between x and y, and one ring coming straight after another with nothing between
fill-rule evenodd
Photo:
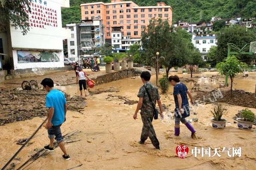
<instances>
[{"instance_id":1,"label":"large dark green tree behind the basketball hoop at right","mask_svg":"<svg viewBox=\"0 0 256 170\"><path fill-rule=\"evenodd\" d=\"M217 34L217 56L215 62L221 62L225 57L227 57L227 44L234 43L239 48L242 48L245 44L252 41L256 41L256 34L253 33L250 29L246 29L241 26L234 25L232 27L221 29ZM237 49L231 49L236 50ZM249 51L249 46L247 49ZM253 57L250 55L239 55L239 59L242 62L249 63L253 60Z\"/></svg>"}]
</instances>

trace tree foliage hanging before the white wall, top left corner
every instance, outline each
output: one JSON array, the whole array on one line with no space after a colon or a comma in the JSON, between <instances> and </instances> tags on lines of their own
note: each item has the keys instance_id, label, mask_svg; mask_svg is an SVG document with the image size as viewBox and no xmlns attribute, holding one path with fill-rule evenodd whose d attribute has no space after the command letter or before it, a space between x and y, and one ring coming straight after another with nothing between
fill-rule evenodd
<instances>
[{"instance_id":1,"label":"tree foliage hanging before the white wall, top left corner","mask_svg":"<svg viewBox=\"0 0 256 170\"><path fill-rule=\"evenodd\" d=\"M11 23L15 29L20 28L23 35L29 31L29 17L31 0L0 0L0 31L6 31Z\"/></svg>"}]
</instances>

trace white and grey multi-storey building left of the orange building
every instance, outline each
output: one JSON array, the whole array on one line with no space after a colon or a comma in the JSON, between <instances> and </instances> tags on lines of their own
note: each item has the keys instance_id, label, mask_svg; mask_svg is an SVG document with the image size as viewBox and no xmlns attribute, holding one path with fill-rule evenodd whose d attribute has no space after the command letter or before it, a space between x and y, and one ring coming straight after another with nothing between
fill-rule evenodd
<instances>
[{"instance_id":1,"label":"white and grey multi-storey building left of the orange building","mask_svg":"<svg viewBox=\"0 0 256 170\"><path fill-rule=\"evenodd\" d=\"M78 60L79 55L95 53L97 47L105 44L102 20L84 20L79 24L67 24L71 38L67 39L69 58Z\"/></svg>"}]
</instances>

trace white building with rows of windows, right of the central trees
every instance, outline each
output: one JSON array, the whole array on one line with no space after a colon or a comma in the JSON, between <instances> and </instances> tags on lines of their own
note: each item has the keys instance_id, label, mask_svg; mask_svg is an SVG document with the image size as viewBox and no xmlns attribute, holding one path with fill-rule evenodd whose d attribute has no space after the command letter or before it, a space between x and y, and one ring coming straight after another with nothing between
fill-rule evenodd
<instances>
[{"instance_id":1,"label":"white building with rows of windows, right of the central trees","mask_svg":"<svg viewBox=\"0 0 256 170\"><path fill-rule=\"evenodd\" d=\"M210 48L212 46L217 46L216 42L217 40L215 34L207 34L206 36L192 36L192 43L202 54L204 61L207 61L207 54L209 53Z\"/></svg>"}]
</instances>

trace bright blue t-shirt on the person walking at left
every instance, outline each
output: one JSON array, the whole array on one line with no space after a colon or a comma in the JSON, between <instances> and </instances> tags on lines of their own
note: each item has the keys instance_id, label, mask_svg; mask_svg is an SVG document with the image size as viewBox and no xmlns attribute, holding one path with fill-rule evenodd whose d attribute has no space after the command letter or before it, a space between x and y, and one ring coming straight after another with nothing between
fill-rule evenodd
<instances>
[{"instance_id":1,"label":"bright blue t-shirt on the person walking at left","mask_svg":"<svg viewBox=\"0 0 256 170\"><path fill-rule=\"evenodd\" d=\"M56 89L52 89L46 96L46 107L54 108L54 113L52 116L52 125L61 125L65 119L65 107L66 98L64 93Z\"/></svg>"}]
</instances>

